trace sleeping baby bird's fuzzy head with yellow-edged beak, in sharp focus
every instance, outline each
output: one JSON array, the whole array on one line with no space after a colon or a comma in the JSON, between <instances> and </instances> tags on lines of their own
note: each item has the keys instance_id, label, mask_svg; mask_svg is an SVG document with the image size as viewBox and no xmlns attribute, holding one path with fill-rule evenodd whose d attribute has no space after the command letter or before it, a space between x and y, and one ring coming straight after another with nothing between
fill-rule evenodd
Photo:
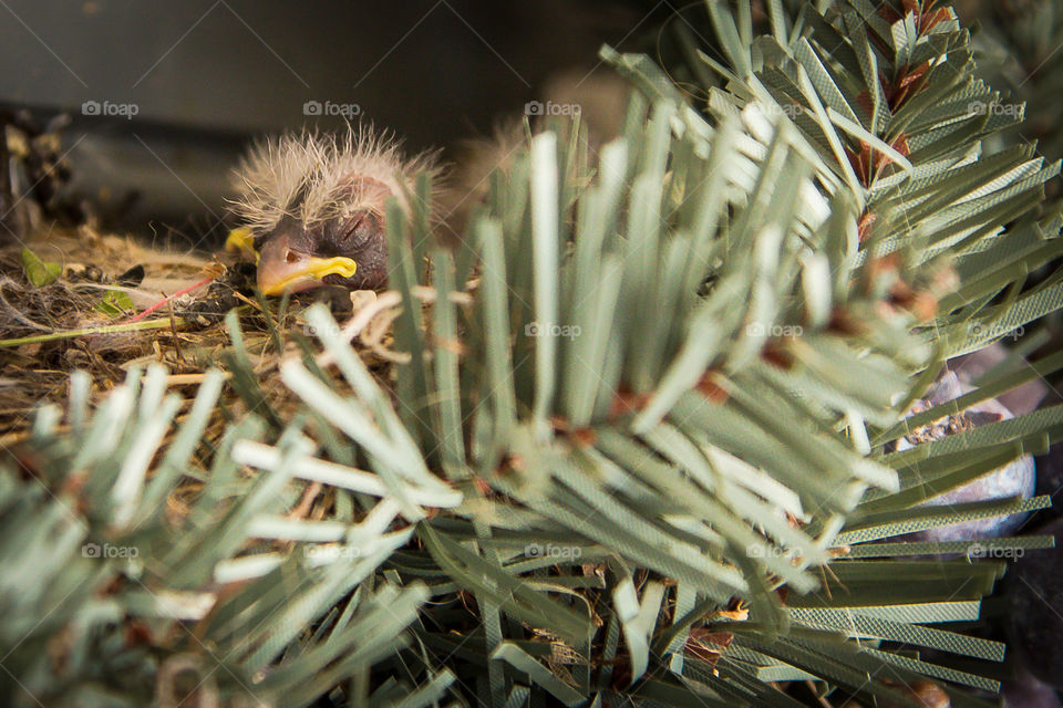
<instances>
[{"instance_id":1,"label":"sleeping baby bird's fuzzy head with yellow-edged beak, in sharp focus","mask_svg":"<svg viewBox=\"0 0 1063 708\"><path fill-rule=\"evenodd\" d=\"M254 147L238 169L233 208L254 236L259 290L386 287L385 206L396 197L410 212L422 171L437 181L435 154L406 158L392 136L369 126L339 136L289 134Z\"/></svg>"}]
</instances>

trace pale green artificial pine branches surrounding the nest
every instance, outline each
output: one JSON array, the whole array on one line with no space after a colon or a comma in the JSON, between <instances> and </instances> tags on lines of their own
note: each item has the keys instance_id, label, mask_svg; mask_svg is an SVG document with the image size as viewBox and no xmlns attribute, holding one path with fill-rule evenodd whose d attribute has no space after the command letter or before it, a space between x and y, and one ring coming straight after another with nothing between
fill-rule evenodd
<instances>
[{"instance_id":1,"label":"pale green artificial pine branches surrounding the nest","mask_svg":"<svg viewBox=\"0 0 1063 708\"><path fill-rule=\"evenodd\" d=\"M1056 439L1060 410L887 444L947 356L1059 308L1057 280L1020 292L1057 254L1059 222L1024 218L1056 166L985 154L1011 123L968 115L995 95L947 9L767 7L771 33L746 42L750 4L709 3L730 64L691 72L726 82L704 104L607 52L639 88L625 134L594 170L576 128L537 135L495 176L467 283L444 251L415 268L427 220L393 209L401 311L381 311L405 357L383 387L357 332L309 311L322 351L281 378L316 440L270 408L278 439L247 416L207 470L192 455L216 375L166 444L179 402L159 373L92 415L75 378L21 477L0 478L29 500L0 549L27 569L3 595L22 612L0 627L11 695L65 669L60 695L96 681L126 705L180 695L185 673L206 680L186 695L231 705L792 706L773 681L805 680L830 700L985 705L969 689L998 688L1003 646L953 623L979 617L1003 564L883 541L1046 504L918 506L927 480L940 492ZM267 400L254 376L231 385ZM355 454L326 459L339 447ZM182 478L204 485L172 521ZM336 490L331 518L285 516L295 479ZM66 516L33 501L44 488ZM144 560L31 569L55 524L53 558L87 533ZM66 589L20 649L18 617L48 618Z\"/></svg>"}]
</instances>

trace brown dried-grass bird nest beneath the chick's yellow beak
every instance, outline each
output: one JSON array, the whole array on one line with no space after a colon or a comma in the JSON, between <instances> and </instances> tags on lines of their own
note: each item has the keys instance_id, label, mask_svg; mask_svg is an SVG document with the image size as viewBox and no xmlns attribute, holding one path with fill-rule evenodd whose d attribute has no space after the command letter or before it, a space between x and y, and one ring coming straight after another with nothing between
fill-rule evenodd
<instances>
[{"instance_id":1,"label":"brown dried-grass bird nest beneath the chick's yellow beak","mask_svg":"<svg viewBox=\"0 0 1063 708\"><path fill-rule=\"evenodd\" d=\"M382 383L391 363L404 360L391 350L395 293L322 289L264 299L252 283L254 267L229 253L158 250L87 227L0 248L0 445L24 439L40 405L63 404L73 369L87 372L100 396L131 368L161 363L171 387L193 394L206 369L231 368L229 312L241 363L272 410L296 406L275 373L283 356L310 346L301 314L309 300L326 300L348 323ZM216 412L219 428L250 407L230 391Z\"/></svg>"}]
</instances>

